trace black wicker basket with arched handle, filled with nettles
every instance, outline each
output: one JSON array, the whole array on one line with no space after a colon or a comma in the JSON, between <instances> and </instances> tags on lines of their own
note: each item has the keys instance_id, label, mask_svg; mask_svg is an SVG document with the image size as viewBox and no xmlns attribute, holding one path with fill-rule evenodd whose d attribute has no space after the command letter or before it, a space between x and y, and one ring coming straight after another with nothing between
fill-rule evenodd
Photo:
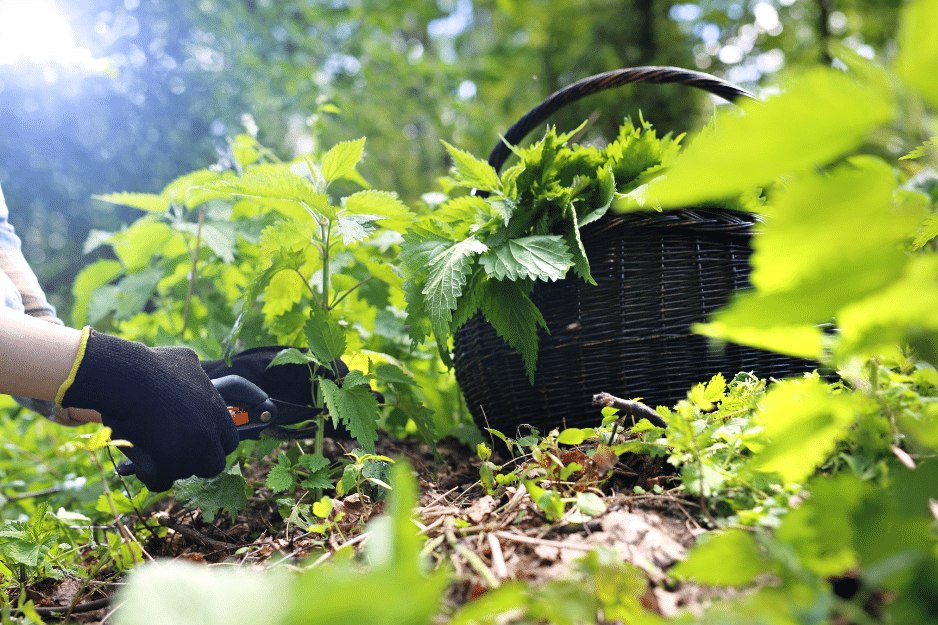
<instances>
[{"instance_id":1,"label":"black wicker basket with arched handle, filled with nettles","mask_svg":"<svg viewBox=\"0 0 938 625\"><path fill-rule=\"evenodd\" d=\"M517 143L558 108L630 82L676 82L727 99L751 97L713 76L643 67L579 81L547 98L506 133ZM489 163L510 154L499 143ZM607 215L581 235L596 285L576 276L538 282L531 299L550 334L539 333L532 385L521 357L476 315L454 337L456 380L479 427L513 435L528 424L596 425L592 397L602 391L671 405L716 373L784 377L816 363L749 347L716 347L693 334L737 291L750 288L750 239L757 217L726 210L681 209Z\"/></svg>"}]
</instances>

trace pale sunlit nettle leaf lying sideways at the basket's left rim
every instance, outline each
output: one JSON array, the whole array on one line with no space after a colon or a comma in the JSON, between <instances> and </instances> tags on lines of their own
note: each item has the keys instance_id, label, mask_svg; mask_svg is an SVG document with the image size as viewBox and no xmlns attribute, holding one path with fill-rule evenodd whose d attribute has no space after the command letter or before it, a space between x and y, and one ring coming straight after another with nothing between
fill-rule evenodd
<instances>
[{"instance_id":1,"label":"pale sunlit nettle leaf lying sideways at the basket's left rim","mask_svg":"<svg viewBox=\"0 0 938 625\"><path fill-rule=\"evenodd\" d=\"M481 258L485 271L498 280L559 280L573 265L563 237L541 235L510 239Z\"/></svg>"}]
</instances>

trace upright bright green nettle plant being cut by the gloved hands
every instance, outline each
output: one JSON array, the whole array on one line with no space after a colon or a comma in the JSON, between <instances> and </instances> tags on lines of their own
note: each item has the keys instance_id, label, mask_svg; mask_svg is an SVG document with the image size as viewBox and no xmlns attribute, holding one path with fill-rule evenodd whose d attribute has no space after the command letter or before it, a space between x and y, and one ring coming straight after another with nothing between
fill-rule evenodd
<instances>
[{"instance_id":1,"label":"upright bright green nettle plant being cut by the gloved hands","mask_svg":"<svg viewBox=\"0 0 938 625\"><path fill-rule=\"evenodd\" d=\"M130 235L138 236L136 230L141 231L138 238L151 231L166 232L167 240L179 238L172 253L156 244L145 246L153 255L138 254L134 263L118 249L118 259L106 261L108 272L94 274L91 285L105 294L139 274L153 274L137 298L139 308L115 318L122 330L146 328L153 325L149 320L161 319L157 325L179 333L172 337L175 342L224 347L226 357L255 345L294 346L270 366L310 369L314 407L322 409L315 445L310 458L288 468L302 467L298 475L310 474L304 487L316 489L329 484L328 462L322 456L328 421L368 452L374 452L386 407L397 421L412 419L424 439L434 436L430 412L417 399L416 383L399 360L406 346L369 330L380 315L404 307L393 257L413 215L395 194L367 188L356 170L364 149L361 138L339 143L315 160L304 156L281 162L242 135L232 146L237 172L194 172L159 195L99 196L148 213L124 232L110 234L105 243L116 248ZM365 188L345 194L350 184ZM342 191L337 193L338 187ZM223 246L217 244L219 231L227 233ZM106 283L115 278L119 286ZM148 300L156 310L142 310ZM210 340L202 338L206 334ZM139 332L135 338L160 342L167 337L165 332ZM387 390L384 404L372 392L372 383ZM232 475L217 479L231 482ZM209 508L243 505L240 472L233 481L238 497Z\"/></svg>"}]
</instances>

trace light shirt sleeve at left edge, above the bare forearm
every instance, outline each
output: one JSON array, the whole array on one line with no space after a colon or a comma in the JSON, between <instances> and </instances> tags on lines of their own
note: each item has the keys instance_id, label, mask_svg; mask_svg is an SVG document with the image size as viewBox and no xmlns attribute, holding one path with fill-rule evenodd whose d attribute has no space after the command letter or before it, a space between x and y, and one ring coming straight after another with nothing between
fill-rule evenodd
<instances>
[{"instance_id":1,"label":"light shirt sleeve at left edge, above the bare forearm","mask_svg":"<svg viewBox=\"0 0 938 625\"><path fill-rule=\"evenodd\" d=\"M23 257L22 244L9 220L0 189L0 303L27 315L61 324L36 274Z\"/></svg>"}]
</instances>

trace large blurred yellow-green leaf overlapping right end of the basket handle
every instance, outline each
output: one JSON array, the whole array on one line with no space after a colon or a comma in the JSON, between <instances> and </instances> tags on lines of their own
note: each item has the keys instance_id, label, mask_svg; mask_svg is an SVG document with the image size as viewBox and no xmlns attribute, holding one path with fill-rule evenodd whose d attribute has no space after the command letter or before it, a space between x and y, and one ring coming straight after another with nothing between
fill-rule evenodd
<instances>
[{"instance_id":1,"label":"large blurred yellow-green leaf overlapping right end of the basket handle","mask_svg":"<svg viewBox=\"0 0 938 625\"><path fill-rule=\"evenodd\" d=\"M855 148L892 114L884 90L825 68L806 71L781 95L764 104L743 103L742 109L744 115L718 113L717 130L698 136L667 175L651 183L657 202L670 207L720 200L783 174L810 171Z\"/></svg>"}]
</instances>

